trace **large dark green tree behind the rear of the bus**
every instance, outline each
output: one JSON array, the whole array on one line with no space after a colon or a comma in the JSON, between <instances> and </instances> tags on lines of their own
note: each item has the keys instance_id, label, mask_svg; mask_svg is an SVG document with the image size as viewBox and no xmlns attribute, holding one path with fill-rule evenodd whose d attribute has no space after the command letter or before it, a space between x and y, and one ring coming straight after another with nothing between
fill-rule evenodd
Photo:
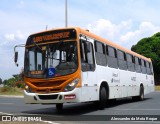
<instances>
[{"instance_id":1,"label":"large dark green tree behind the rear of the bus","mask_svg":"<svg viewBox=\"0 0 160 124\"><path fill-rule=\"evenodd\" d=\"M152 59L155 82L160 84L160 32L141 39L131 50Z\"/></svg>"}]
</instances>

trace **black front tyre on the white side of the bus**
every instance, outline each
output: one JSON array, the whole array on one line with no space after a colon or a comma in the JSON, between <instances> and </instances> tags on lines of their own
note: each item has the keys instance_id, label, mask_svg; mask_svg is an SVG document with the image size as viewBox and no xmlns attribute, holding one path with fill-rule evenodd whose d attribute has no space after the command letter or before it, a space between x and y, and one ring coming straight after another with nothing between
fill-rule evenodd
<instances>
[{"instance_id":1,"label":"black front tyre on the white side of the bus","mask_svg":"<svg viewBox=\"0 0 160 124\"><path fill-rule=\"evenodd\" d=\"M100 88L98 107L99 109L104 109L107 103L107 92L105 87Z\"/></svg>"}]
</instances>

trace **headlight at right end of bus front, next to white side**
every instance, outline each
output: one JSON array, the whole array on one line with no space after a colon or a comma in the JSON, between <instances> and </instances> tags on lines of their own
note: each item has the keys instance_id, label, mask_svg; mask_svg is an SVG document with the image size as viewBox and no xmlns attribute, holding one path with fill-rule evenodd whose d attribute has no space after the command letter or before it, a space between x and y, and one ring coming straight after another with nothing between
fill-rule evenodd
<instances>
[{"instance_id":1,"label":"headlight at right end of bus front, next to white side","mask_svg":"<svg viewBox=\"0 0 160 124\"><path fill-rule=\"evenodd\" d=\"M79 78L74 79L71 83L69 83L65 88L64 91L72 91L79 82Z\"/></svg>"}]
</instances>

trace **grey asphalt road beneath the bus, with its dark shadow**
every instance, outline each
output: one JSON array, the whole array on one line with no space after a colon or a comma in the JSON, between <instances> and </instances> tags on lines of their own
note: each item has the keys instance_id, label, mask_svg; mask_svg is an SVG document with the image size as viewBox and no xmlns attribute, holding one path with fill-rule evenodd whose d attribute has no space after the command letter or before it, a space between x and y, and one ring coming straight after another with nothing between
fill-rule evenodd
<instances>
[{"instance_id":1,"label":"grey asphalt road beneath the bus, with its dark shadow","mask_svg":"<svg viewBox=\"0 0 160 124\"><path fill-rule=\"evenodd\" d=\"M9 114L42 117L44 123L47 121L53 124L93 122L95 124L158 124L160 121L146 121L143 118L160 119L160 92L146 95L144 101L133 101L128 98L110 102L104 110L98 110L93 103L64 104L64 110L61 112L56 110L55 105L25 104L23 98L0 96L0 115ZM112 117L120 119L133 117L138 120L108 121Z\"/></svg>"}]
</instances>

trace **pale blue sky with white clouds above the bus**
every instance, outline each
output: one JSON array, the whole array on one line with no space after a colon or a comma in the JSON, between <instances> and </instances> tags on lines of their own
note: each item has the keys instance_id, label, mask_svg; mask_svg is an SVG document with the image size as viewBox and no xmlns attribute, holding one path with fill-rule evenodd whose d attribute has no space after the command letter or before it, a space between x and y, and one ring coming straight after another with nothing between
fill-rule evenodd
<instances>
[{"instance_id":1,"label":"pale blue sky with white clouds above the bus","mask_svg":"<svg viewBox=\"0 0 160 124\"><path fill-rule=\"evenodd\" d=\"M0 0L0 78L20 73L25 44L35 32L65 27L65 0ZM68 0L68 27L89 29L130 49L140 39L160 32L160 0Z\"/></svg>"}]
</instances>

